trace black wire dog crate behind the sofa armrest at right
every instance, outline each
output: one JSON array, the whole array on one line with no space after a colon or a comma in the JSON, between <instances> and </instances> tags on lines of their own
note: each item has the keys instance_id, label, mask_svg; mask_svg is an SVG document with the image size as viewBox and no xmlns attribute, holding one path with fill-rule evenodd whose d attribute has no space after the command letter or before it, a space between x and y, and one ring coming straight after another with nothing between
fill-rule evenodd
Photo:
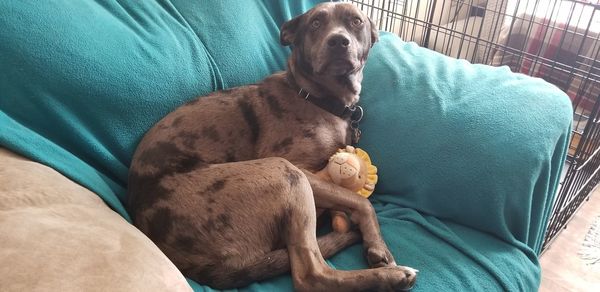
<instances>
[{"instance_id":1,"label":"black wire dog crate behind the sofa armrest at right","mask_svg":"<svg viewBox=\"0 0 600 292\"><path fill-rule=\"evenodd\" d=\"M451 57L540 77L573 103L542 250L600 181L600 0L348 0L379 29Z\"/></svg>"}]
</instances>

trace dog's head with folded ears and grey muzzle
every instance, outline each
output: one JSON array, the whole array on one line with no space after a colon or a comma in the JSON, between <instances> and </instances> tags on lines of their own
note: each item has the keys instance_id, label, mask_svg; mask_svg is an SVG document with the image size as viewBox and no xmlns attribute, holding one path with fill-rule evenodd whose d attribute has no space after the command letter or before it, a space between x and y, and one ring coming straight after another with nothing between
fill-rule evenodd
<instances>
[{"instance_id":1,"label":"dog's head with folded ears and grey muzzle","mask_svg":"<svg viewBox=\"0 0 600 292\"><path fill-rule=\"evenodd\" d=\"M362 70L377 41L373 22L350 3L322 3L281 28L296 65L313 76L344 76Z\"/></svg>"}]
</instances>

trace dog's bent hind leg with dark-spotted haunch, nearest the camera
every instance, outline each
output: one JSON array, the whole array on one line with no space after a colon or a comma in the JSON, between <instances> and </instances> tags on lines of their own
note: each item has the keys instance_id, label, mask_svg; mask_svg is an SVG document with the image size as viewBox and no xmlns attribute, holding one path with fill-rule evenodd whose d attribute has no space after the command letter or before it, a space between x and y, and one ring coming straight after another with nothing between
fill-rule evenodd
<instances>
[{"instance_id":1,"label":"dog's bent hind leg with dark-spotted haunch, nearest the camera","mask_svg":"<svg viewBox=\"0 0 600 292\"><path fill-rule=\"evenodd\" d=\"M281 274L288 266L294 286L302 291L390 291L414 282L414 271L402 267L330 268L316 236L311 183L285 159L211 165L166 176L160 186L177 186L178 192L170 192L143 213L139 226L184 275L199 283L218 289L240 287ZM173 210L173 205L182 208ZM285 249L273 251L284 247L289 265ZM322 248L328 256L341 246L328 240L322 241Z\"/></svg>"}]
</instances>

